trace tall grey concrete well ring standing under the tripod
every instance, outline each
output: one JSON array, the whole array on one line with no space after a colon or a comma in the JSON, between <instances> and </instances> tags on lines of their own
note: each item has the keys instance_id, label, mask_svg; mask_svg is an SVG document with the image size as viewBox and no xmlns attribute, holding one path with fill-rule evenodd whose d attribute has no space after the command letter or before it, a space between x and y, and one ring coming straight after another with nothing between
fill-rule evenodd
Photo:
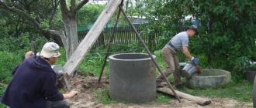
<instances>
[{"instance_id":1,"label":"tall grey concrete well ring standing under the tripod","mask_svg":"<svg viewBox=\"0 0 256 108\"><path fill-rule=\"evenodd\" d=\"M148 54L124 53L109 56L111 99L130 103L155 100L157 96L155 77L155 66Z\"/></svg>"}]
</instances>

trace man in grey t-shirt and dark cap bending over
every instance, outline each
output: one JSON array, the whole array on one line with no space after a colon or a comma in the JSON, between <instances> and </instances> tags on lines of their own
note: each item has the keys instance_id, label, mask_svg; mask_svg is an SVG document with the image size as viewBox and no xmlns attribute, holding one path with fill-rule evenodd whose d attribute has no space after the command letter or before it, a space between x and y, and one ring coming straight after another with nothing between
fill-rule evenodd
<instances>
[{"instance_id":1,"label":"man in grey t-shirt and dark cap bending over","mask_svg":"<svg viewBox=\"0 0 256 108\"><path fill-rule=\"evenodd\" d=\"M174 73L175 87L181 89L181 75L180 75L180 66L178 58L175 55L176 52L182 51L186 58L190 59L195 64L199 64L199 59L193 57L189 52L189 37L194 36L197 33L197 27L191 25L187 28L185 32L179 32L164 46L161 50L162 58L164 59L166 69L164 75L166 77L170 76L171 73ZM163 81L163 76L157 76L157 86L161 86Z\"/></svg>"}]
</instances>

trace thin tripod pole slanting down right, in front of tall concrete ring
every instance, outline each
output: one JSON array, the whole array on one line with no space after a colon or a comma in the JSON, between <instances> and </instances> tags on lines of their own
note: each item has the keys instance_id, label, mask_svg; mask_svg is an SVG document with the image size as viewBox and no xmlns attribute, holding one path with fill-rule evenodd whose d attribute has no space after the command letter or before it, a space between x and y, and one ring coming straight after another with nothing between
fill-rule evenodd
<instances>
[{"instance_id":1,"label":"thin tripod pole slanting down right, in front of tall concrete ring","mask_svg":"<svg viewBox=\"0 0 256 108\"><path fill-rule=\"evenodd\" d=\"M144 46L144 48L147 50L148 55L150 56L151 60L154 62L154 65L157 67L158 71L161 73L161 76L164 77L165 82L168 84L169 88L171 89L172 93L175 94L176 99L178 100L179 103L181 103L182 101L179 99L179 97L177 96L177 94L175 93L175 89L173 88L173 86L171 86L171 83L169 83L168 79L166 78L166 76L164 75L164 73L161 71L160 66L158 66L157 62L154 60L154 57L152 56L150 50L147 48L147 45L145 44L144 40L140 37L139 32L137 31L137 29L134 27L134 25L132 24L132 22L130 22L130 19L128 19L128 16L126 15L126 12L124 12L123 7L121 5L119 5L120 10L123 12L123 15L125 17L125 19L127 20L127 22L129 22L130 26L132 27L133 31L135 32L137 39L139 39L139 41L142 43L142 45Z\"/></svg>"}]
</instances>

